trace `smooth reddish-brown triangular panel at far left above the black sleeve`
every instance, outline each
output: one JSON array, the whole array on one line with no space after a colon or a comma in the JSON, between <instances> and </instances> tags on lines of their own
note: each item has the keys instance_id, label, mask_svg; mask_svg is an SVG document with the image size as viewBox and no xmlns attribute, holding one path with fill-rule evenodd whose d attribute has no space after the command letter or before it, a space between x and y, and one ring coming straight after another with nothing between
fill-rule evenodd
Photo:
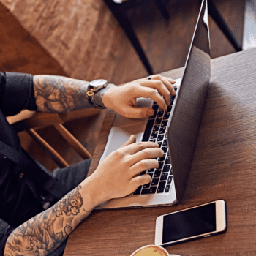
<instances>
[{"instance_id":1,"label":"smooth reddish-brown triangular panel at far left above the black sleeve","mask_svg":"<svg viewBox=\"0 0 256 256\"><path fill-rule=\"evenodd\" d=\"M31 74L67 75L59 64L23 29L0 3L0 70Z\"/></svg>"}]
</instances>

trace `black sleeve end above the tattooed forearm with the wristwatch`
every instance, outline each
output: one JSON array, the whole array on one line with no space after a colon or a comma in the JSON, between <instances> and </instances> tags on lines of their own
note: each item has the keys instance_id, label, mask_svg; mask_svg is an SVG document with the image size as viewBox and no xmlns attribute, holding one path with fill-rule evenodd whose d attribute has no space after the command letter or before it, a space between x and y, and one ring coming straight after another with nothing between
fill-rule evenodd
<instances>
[{"instance_id":1,"label":"black sleeve end above the tattooed forearm with the wristwatch","mask_svg":"<svg viewBox=\"0 0 256 256\"><path fill-rule=\"evenodd\" d=\"M25 108L37 110L32 75L0 72L0 108L5 116L14 116Z\"/></svg>"}]
</instances>

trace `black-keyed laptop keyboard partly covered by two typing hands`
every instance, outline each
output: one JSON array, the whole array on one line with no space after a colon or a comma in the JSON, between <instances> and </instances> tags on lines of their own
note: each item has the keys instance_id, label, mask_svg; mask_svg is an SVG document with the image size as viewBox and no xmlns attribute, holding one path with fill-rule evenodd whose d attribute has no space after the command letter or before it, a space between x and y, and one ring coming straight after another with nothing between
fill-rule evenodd
<instances>
[{"instance_id":1,"label":"black-keyed laptop keyboard partly covered by two typing hands","mask_svg":"<svg viewBox=\"0 0 256 256\"><path fill-rule=\"evenodd\" d=\"M175 89L176 90L176 89ZM143 135L142 141L153 141L159 144L159 148L165 152L164 157L159 157L158 169L145 170L140 175L149 174L151 182L138 187L133 195L146 195L155 193L168 193L170 191L170 184L173 180L173 169L170 165L170 154L167 146L167 123L172 110L174 97L170 99L170 106L167 110L159 108L154 102L152 108L154 109L154 116L148 118L148 123Z\"/></svg>"}]
</instances>

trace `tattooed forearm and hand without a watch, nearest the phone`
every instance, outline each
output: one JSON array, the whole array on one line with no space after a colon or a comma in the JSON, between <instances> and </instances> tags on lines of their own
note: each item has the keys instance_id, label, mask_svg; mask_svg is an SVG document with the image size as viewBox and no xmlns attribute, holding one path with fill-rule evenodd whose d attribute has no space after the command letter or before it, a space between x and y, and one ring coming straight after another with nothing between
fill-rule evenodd
<instances>
[{"instance_id":1,"label":"tattooed forearm and hand without a watch, nearest the phone","mask_svg":"<svg viewBox=\"0 0 256 256\"><path fill-rule=\"evenodd\" d=\"M164 152L157 143L136 143L132 135L113 151L91 176L54 206L29 219L7 238L4 256L45 256L56 249L93 208L111 198L131 194L148 184L151 176L143 170L158 167Z\"/></svg>"}]
</instances>

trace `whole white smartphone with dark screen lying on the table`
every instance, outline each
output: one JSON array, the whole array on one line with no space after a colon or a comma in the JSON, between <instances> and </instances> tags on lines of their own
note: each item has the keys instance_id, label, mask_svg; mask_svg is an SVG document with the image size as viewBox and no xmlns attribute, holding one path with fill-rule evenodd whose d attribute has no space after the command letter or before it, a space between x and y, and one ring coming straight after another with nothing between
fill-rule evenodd
<instances>
[{"instance_id":1,"label":"whole white smartphone with dark screen lying on the table","mask_svg":"<svg viewBox=\"0 0 256 256\"><path fill-rule=\"evenodd\" d=\"M226 228L225 201L217 200L157 217L155 244L179 244L224 233Z\"/></svg>"}]
</instances>

